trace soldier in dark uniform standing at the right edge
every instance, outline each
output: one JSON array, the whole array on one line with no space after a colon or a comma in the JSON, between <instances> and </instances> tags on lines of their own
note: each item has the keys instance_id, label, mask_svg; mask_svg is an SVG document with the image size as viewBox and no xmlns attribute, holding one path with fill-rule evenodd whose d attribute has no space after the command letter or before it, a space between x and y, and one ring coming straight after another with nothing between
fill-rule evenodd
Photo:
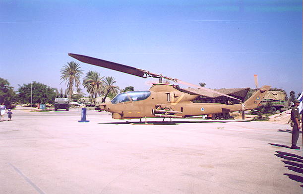
<instances>
[{"instance_id":1,"label":"soldier in dark uniform standing at the right edge","mask_svg":"<svg viewBox=\"0 0 303 194\"><path fill-rule=\"evenodd\" d=\"M295 106L292 108L292 114L291 114L291 120L294 122L294 127L293 127L293 135L292 135L292 149L300 149L300 147L297 146L297 141L299 138L300 134L300 121L301 121L301 116L298 110L298 106L300 105L299 100L294 100Z\"/></svg>"}]
</instances>

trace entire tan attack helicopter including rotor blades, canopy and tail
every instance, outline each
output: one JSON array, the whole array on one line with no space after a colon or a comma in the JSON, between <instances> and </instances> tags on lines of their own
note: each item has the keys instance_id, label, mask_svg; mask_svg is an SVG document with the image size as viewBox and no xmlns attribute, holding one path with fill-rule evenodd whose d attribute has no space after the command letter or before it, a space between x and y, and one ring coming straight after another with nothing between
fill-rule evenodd
<instances>
[{"instance_id":1,"label":"entire tan attack helicopter including rotor blades, canopy and tail","mask_svg":"<svg viewBox=\"0 0 303 194\"><path fill-rule=\"evenodd\" d=\"M266 91L270 89L270 86L268 85L257 88L256 92L242 103L240 99L222 92L187 83L180 79L167 77L162 74L156 74L132 66L84 55L72 53L69 53L68 55L83 63L110 68L143 78L159 78L159 83L153 83L151 88L147 91L122 92L114 97L111 102L103 102L100 105L100 110L111 112L113 119L140 119L140 121L142 118L172 119L251 110L256 108L261 101L264 100ZM208 93L215 93L234 100L239 100L239 103L232 105L220 103L193 103L193 100L201 95L199 92L182 89L179 85L170 84L169 82L163 83L163 79L196 87Z\"/></svg>"}]
</instances>

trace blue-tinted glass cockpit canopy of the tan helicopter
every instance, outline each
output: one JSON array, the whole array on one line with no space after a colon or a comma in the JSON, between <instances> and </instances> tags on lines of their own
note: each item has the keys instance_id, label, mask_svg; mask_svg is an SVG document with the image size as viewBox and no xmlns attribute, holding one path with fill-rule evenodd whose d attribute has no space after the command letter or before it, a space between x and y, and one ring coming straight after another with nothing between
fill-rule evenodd
<instances>
[{"instance_id":1,"label":"blue-tinted glass cockpit canopy of the tan helicopter","mask_svg":"<svg viewBox=\"0 0 303 194\"><path fill-rule=\"evenodd\" d=\"M112 104L118 104L121 102L127 101L139 101L145 100L150 96L150 91L129 91L129 92L122 92L118 94L111 102Z\"/></svg>"}]
</instances>

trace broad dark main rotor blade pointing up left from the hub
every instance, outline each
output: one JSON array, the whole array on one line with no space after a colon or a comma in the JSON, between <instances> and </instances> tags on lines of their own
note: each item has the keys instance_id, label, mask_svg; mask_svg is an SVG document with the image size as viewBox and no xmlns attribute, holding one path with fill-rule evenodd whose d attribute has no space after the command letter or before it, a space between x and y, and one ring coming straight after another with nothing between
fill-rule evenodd
<instances>
[{"instance_id":1,"label":"broad dark main rotor blade pointing up left from the hub","mask_svg":"<svg viewBox=\"0 0 303 194\"><path fill-rule=\"evenodd\" d=\"M75 58L76 60L79 60L80 62L83 62L83 63L102 66L102 67L113 69L113 70L116 70L116 71L121 71L123 73L128 73L128 74L132 74L132 75L136 75L136 76L139 76L139 77L146 78L146 76L144 76L144 74L147 71L142 70L142 69L138 69L138 68L135 68L135 67L132 67L132 66L117 64L117 63L114 63L114 62L109 62L109 61L105 61L105 60L102 60L102 59L88 57L88 56L85 56L85 55L78 55L78 54L73 54L73 53L68 53L68 55L70 57Z\"/></svg>"}]
</instances>

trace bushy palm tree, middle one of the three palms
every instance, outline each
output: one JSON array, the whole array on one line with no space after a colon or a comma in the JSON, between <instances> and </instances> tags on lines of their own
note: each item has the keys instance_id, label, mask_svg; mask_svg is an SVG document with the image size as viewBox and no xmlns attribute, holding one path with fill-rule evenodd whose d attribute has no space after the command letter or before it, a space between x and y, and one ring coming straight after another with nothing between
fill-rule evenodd
<instances>
[{"instance_id":1,"label":"bushy palm tree, middle one of the three palms","mask_svg":"<svg viewBox=\"0 0 303 194\"><path fill-rule=\"evenodd\" d=\"M104 93L103 77L97 71L88 71L83 79L83 85L93 98Z\"/></svg>"}]
</instances>

